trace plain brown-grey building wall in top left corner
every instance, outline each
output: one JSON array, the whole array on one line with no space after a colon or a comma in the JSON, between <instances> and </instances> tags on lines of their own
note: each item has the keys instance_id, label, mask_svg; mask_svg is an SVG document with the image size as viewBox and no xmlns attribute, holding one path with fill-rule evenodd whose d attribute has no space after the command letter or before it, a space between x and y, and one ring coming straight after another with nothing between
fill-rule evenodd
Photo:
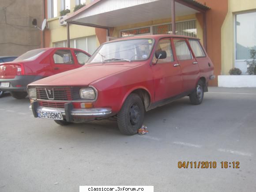
<instances>
[{"instance_id":1,"label":"plain brown-grey building wall in top left corner","mask_svg":"<svg viewBox=\"0 0 256 192\"><path fill-rule=\"evenodd\" d=\"M42 47L42 32L32 25L43 21L42 0L0 0L0 56L19 56Z\"/></svg>"}]
</instances>

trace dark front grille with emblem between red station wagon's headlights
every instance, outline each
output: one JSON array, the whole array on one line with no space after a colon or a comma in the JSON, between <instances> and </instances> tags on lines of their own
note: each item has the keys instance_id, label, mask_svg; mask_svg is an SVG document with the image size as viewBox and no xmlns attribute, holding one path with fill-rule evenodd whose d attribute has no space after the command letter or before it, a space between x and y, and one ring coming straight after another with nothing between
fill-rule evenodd
<instances>
[{"instance_id":1,"label":"dark front grille with emblem between red station wagon's headlights","mask_svg":"<svg viewBox=\"0 0 256 192\"><path fill-rule=\"evenodd\" d=\"M49 101L79 101L79 87L36 87L37 99Z\"/></svg>"}]
</instances>

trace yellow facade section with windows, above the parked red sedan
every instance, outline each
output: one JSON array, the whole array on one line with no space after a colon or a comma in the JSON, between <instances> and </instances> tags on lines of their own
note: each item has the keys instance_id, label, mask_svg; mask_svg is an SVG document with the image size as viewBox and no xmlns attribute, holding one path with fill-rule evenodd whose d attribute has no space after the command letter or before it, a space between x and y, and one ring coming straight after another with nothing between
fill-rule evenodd
<instances>
[{"instance_id":1,"label":"yellow facade section with windows, above the parked red sedan","mask_svg":"<svg viewBox=\"0 0 256 192\"><path fill-rule=\"evenodd\" d=\"M48 29L45 30L45 47L67 47L67 24L64 19L74 12L79 4L90 4L92 0L44 0ZM70 10L63 16L61 11ZM92 54L99 46L95 28L89 26L70 26L70 47L82 49Z\"/></svg>"}]
</instances>

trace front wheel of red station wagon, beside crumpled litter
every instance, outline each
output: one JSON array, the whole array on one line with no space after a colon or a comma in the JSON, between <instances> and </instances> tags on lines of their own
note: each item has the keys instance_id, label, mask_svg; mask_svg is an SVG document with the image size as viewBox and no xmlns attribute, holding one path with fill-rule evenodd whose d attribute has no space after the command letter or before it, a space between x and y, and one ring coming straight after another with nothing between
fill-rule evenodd
<instances>
[{"instance_id":1,"label":"front wheel of red station wagon, beside crumpled litter","mask_svg":"<svg viewBox=\"0 0 256 192\"><path fill-rule=\"evenodd\" d=\"M137 94L130 94L117 114L117 124L120 132L125 135L135 135L144 120L145 108Z\"/></svg>"}]
</instances>

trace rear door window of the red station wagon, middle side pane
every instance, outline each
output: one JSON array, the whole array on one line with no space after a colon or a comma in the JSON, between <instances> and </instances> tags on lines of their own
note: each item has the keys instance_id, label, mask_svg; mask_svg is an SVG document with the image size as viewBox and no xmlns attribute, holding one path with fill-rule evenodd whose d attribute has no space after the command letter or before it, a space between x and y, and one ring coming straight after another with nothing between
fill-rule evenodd
<instances>
[{"instance_id":1,"label":"rear door window of the red station wagon, middle side pane","mask_svg":"<svg viewBox=\"0 0 256 192\"><path fill-rule=\"evenodd\" d=\"M188 60L192 59L191 52L184 39L173 39L177 60Z\"/></svg>"}]
</instances>

